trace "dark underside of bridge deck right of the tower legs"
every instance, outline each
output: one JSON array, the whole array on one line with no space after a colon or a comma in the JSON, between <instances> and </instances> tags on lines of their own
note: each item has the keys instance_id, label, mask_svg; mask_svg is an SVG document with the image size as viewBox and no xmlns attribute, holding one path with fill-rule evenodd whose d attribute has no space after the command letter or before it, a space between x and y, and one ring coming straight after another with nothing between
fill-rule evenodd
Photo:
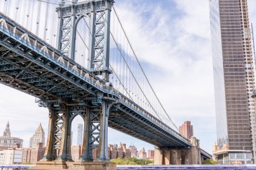
<instances>
[{"instance_id":1,"label":"dark underside of bridge deck right of the tower legs","mask_svg":"<svg viewBox=\"0 0 256 170\"><path fill-rule=\"evenodd\" d=\"M162 128L156 126L150 120L135 112L125 111L125 108L119 108L117 111L110 112L108 125L110 128L158 147L186 148L181 141L170 138L165 130L162 130Z\"/></svg>"}]
</instances>

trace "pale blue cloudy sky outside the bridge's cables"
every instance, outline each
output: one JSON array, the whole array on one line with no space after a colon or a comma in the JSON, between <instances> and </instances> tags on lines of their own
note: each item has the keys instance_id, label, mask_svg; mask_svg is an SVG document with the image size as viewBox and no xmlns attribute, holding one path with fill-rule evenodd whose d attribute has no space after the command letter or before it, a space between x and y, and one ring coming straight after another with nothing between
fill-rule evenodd
<instances>
[{"instance_id":1,"label":"pale blue cloudy sky outside the bridge's cables","mask_svg":"<svg viewBox=\"0 0 256 170\"><path fill-rule=\"evenodd\" d=\"M256 28L256 1L248 0ZM160 101L177 126L189 120L200 146L212 153L216 142L214 78L208 0L116 0L115 9ZM256 31L255 31L256 34ZM48 110L34 97L0 85L0 135L9 120L11 136L30 137L40 123L47 135ZM73 121L73 144L77 123ZM108 143L154 146L110 129Z\"/></svg>"}]
</instances>

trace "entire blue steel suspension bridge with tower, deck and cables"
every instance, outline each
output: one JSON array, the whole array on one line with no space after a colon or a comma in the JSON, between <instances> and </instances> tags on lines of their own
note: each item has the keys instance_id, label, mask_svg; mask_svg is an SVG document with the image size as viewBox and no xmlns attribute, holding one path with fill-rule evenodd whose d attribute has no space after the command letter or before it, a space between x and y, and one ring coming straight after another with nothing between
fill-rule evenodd
<instances>
[{"instance_id":1,"label":"entire blue steel suspension bridge with tower, deck and cables","mask_svg":"<svg viewBox=\"0 0 256 170\"><path fill-rule=\"evenodd\" d=\"M76 116L85 123L84 162L95 148L98 161L108 160L108 127L160 150L193 145L164 110L114 3L1 0L0 83L49 108L44 161L71 161Z\"/></svg>"}]
</instances>

